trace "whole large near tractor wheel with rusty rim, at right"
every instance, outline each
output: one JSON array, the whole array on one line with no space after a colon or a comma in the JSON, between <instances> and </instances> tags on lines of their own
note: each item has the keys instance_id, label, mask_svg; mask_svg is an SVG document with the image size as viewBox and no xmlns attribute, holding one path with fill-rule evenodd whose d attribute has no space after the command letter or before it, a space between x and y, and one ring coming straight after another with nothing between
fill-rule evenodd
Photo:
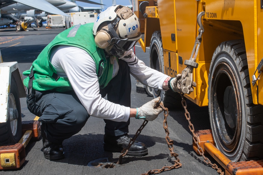
<instances>
[{"instance_id":1,"label":"whole large near tractor wheel with rusty rim, at right","mask_svg":"<svg viewBox=\"0 0 263 175\"><path fill-rule=\"evenodd\" d=\"M210 124L216 147L231 161L263 157L262 105L254 105L244 40L221 43L208 78Z\"/></svg>"}]
</instances>

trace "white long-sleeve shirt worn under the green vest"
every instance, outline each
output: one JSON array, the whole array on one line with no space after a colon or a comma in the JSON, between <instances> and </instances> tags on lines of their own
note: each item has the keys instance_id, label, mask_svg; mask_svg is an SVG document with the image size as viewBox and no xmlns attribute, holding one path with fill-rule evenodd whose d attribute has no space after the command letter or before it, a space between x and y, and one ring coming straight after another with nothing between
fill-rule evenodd
<instances>
[{"instance_id":1,"label":"white long-sleeve shirt worn under the green vest","mask_svg":"<svg viewBox=\"0 0 263 175\"><path fill-rule=\"evenodd\" d=\"M163 83L168 76L146 66L134 55L132 49L120 59L128 63L130 74L141 83L163 90ZM96 65L85 50L59 45L52 49L50 61L59 76L68 77L73 90L89 115L119 122L128 121L130 107L114 104L99 94Z\"/></svg>"}]
</instances>

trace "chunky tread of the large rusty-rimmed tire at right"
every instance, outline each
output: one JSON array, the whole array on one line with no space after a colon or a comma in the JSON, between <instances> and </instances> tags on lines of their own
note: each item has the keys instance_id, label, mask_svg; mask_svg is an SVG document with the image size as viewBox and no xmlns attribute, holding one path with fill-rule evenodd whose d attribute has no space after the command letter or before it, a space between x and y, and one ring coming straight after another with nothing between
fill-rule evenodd
<instances>
[{"instance_id":1,"label":"chunky tread of the large rusty-rimmed tire at right","mask_svg":"<svg viewBox=\"0 0 263 175\"><path fill-rule=\"evenodd\" d=\"M245 52L244 40L232 40L221 43L214 52L219 53L220 51L226 51L231 55L235 55L235 62L237 69L240 73L241 79L243 80L243 91L245 96L246 106L246 134L244 149L241 153L239 160L250 160L250 159L261 159L263 158L263 125L262 125L262 114L263 106L255 105L252 99L250 77L247 64L247 56ZM211 60L213 65L214 60ZM209 69L211 72L211 66ZM209 73L209 78L210 78Z\"/></svg>"}]
</instances>

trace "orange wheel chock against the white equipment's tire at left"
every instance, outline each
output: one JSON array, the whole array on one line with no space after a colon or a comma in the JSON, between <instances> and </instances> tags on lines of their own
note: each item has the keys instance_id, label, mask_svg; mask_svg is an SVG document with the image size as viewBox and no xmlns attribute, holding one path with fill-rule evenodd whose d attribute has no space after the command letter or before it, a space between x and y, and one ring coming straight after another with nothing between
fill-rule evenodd
<instances>
[{"instance_id":1,"label":"orange wheel chock against the white equipment's tire at left","mask_svg":"<svg viewBox=\"0 0 263 175\"><path fill-rule=\"evenodd\" d=\"M40 122L38 117L31 121L22 121L22 138L16 144L0 146L0 170L17 169L26 160L25 147L28 142L40 137Z\"/></svg>"}]
</instances>

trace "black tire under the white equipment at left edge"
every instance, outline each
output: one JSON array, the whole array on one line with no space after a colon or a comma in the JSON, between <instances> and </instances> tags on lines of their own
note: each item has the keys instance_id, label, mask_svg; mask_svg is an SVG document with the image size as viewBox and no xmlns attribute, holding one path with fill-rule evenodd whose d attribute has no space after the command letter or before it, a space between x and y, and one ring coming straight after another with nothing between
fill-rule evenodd
<instances>
[{"instance_id":1,"label":"black tire under the white equipment at left edge","mask_svg":"<svg viewBox=\"0 0 263 175\"><path fill-rule=\"evenodd\" d=\"M0 145L17 143L22 136L20 100L18 96L17 84L13 75L11 76L8 110L9 115L7 122L0 123ZM13 116L15 117L15 119L12 119L12 117L10 117L11 111L13 112Z\"/></svg>"}]
</instances>

